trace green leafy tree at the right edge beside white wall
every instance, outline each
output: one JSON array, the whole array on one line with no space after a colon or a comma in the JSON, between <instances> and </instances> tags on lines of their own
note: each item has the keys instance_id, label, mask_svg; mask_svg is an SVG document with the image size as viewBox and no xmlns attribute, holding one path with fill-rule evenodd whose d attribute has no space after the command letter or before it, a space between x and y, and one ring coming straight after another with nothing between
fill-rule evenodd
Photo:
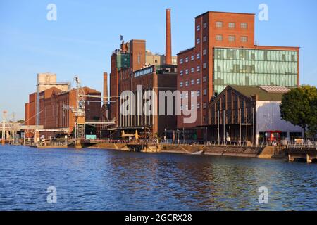
<instances>
[{"instance_id":1,"label":"green leafy tree at the right edge beside white wall","mask_svg":"<svg viewBox=\"0 0 317 225\"><path fill-rule=\"evenodd\" d=\"M299 89L292 89L282 96L280 105L282 120L286 120L295 126L306 130L315 136L317 127L317 89L315 86L301 86Z\"/></svg>"}]
</instances>

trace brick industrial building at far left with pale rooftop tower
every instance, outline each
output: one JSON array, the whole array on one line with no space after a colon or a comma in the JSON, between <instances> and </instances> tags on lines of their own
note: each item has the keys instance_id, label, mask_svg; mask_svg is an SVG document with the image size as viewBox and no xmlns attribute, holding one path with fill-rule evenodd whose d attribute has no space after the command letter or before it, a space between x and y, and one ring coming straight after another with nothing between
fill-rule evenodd
<instances>
[{"instance_id":1,"label":"brick industrial building at far left with pale rooftop tower","mask_svg":"<svg viewBox=\"0 0 317 225\"><path fill-rule=\"evenodd\" d=\"M45 75L45 76L44 76ZM46 79L43 79L46 77ZM85 95L101 96L99 91L83 87ZM75 127L77 89L70 89L67 83L56 83L56 75L39 74L37 92L30 94L25 104L25 125L42 125L39 134L47 138L70 135ZM86 98L86 121L98 121L100 117L101 98ZM30 137L30 136L28 136Z\"/></svg>"}]
</instances>

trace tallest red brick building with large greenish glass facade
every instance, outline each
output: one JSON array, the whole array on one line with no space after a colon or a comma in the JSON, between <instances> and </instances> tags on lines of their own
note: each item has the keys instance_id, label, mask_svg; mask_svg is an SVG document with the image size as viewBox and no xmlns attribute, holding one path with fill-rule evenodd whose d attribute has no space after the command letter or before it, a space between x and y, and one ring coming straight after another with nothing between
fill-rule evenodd
<instances>
[{"instance_id":1,"label":"tallest red brick building with large greenish glass facade","mask_svg":"<svg viewBox=\"0 0 317 225\"><path fill-rule=\"evenodd\" d=\"M255 15L209 11L195 18L194 47L178 53L178 90L197 91L197 120L178 129L185 139L204 139L208 105L228 85L299 86L299 47L259 46ZM190 95L189 95L190 96Z\"/></svg>"}]
</instances>

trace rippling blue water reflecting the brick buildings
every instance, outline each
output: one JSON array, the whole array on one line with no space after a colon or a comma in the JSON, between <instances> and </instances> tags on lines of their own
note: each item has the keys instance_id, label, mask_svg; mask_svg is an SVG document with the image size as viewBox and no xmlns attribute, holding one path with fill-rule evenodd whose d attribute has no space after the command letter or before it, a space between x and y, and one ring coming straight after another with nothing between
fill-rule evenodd
<instances>
[{"instance_id":1,"label":"rippling blue water reflecting the brick buildings","mask_svg":"<svg viewBox=\"0 0 317 225\"><path fill-rule=\"evenodd\" d=\"M317 209L317 165L20 146L0 147L0 160L0 210ZM56 205L46 203L49 186Z\"/></svg>"}]
</instances>

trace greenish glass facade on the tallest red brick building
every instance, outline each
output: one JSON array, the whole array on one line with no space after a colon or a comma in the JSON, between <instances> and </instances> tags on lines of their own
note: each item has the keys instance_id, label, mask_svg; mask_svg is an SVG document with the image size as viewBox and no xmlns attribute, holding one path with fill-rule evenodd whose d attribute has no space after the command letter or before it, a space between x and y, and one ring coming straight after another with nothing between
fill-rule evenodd
<instances>
[{"instance_id":1,"label":"greenish glass facade on the tallest red brick building","mask_svg":"<svg viewBox=\"0 0 317 225\"><path fill-rule=\"evenodd\" d=\"M215 48L213 60L215 94L228 85L297 87L297 51Z\"/></svg>"}]
</instances>

